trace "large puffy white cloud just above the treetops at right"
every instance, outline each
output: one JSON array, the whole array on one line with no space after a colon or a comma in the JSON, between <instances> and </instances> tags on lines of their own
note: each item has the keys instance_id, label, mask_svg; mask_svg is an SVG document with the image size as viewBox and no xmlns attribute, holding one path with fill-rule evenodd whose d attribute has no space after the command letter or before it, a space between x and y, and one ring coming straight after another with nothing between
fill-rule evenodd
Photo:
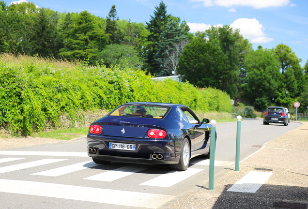
<instances>
[{"instance_id":1,"label":"large puffy white cloud just above the treetops at right","mask_svg":"<svg viewBox=\"0 0 308 209\"><path fill-rule=\"evenodd\" d=\"M240 18L235 20L230 26L233 29L239 29L240 34L242 34L244 38L248 39L253 44L263 44L274 40L273 38L266 36L263 32L265 29L262 24L255 18Z\"/></svg>"}]
</instances>

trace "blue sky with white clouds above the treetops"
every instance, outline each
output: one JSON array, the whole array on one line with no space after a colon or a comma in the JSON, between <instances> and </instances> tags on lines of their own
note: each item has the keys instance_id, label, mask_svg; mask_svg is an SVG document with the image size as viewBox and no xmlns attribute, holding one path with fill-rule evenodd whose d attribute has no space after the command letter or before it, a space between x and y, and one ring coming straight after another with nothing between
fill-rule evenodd
<instances>
[{"instance_id":1,"label":"blue sky with white clouds above the treetops","mask_svg":"<svg viewBox=\"0 0 308 209\"><path fill-rule=\"evenodd\" d=\"M29 0L31 1L31 0ZM116 6L120 19L149 22L161 0L33 0L38 7L59 12L81 12L106 17ZM12 1L5 1L10 4ZM308 0L164 0L167 12L185 20L190 31L204 31L211 25L239 28L256 49L283 43L295 55L308 60Z\"/></svg>"}]
</instances>

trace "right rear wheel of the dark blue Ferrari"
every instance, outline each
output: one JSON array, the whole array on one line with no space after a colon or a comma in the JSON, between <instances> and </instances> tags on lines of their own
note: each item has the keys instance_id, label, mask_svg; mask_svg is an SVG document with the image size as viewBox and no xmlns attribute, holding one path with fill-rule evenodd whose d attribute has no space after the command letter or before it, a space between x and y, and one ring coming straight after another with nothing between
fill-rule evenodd
<instances>
[{"instance_id":1,"label":"right rear wheel of the dark blue Ferrari","mask_svg":"<svg viewBox=\"0 0 308 209\"><path fill-rule=\"evenodd\" d=\"M180 161L178 164L171 164L171 168L175 170L185 171L188 168L190 160L190 145L187 138L183 140L180 154Z\"/></svg>"}]
</instances>

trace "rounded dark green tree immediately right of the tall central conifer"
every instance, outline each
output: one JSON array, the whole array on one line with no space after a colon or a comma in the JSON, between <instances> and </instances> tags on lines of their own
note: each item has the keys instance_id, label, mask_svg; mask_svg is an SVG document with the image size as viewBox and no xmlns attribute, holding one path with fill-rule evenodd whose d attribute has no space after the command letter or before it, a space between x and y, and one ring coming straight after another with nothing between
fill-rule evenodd
<instances>
[{"instance_id":1,"label":"rounded dark green tree immediately right of the tall central conifer","mask_svg":"<svg viewBox=\"0 0 308 209\"><path fill-rule=\"evenodd\" d=\"M178 73L198 87L223 90L230 76L228 68L228 60L212 43L202 38L193 38L180 57Z\"/></svg>"}]
</instances>

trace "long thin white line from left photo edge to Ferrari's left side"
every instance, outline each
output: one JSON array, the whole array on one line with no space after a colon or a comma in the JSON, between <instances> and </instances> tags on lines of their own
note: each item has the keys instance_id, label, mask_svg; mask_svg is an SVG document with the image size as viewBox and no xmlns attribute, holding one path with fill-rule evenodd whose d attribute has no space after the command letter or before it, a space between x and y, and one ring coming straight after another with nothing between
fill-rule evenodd
<instances>
[{"instance_id":1,"label":"long thin white line from left photo edge to Ferrari's left side","mask_svg":"<svg viewBox=\"0 0 308 209\"><path fill-rule=\"evenodd\" d=\"M57 151L0 151L0 155L35 155L35 156L65 156L88 157L86 152L57 152Z\"/></svg>"}]
</instances>

